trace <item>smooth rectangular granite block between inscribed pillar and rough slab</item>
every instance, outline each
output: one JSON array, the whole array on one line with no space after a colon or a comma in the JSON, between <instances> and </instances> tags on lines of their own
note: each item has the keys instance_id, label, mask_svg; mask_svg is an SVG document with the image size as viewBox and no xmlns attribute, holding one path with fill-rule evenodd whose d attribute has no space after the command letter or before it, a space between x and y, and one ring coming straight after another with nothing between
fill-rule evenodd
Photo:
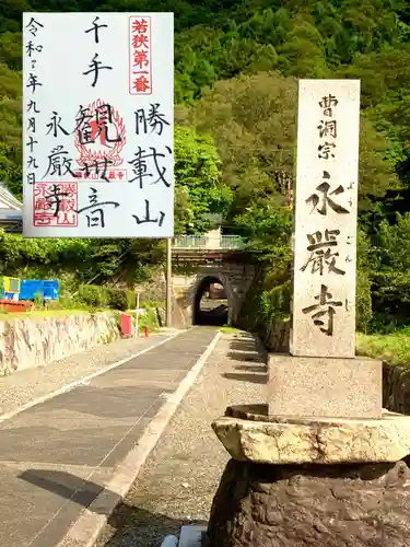
<instances>
[{"instance_id":1,"label":"smooth rectangular granite block between inscribed pillar and rough slab","mask_svg":"<svg viewBox=\"0 0 410 547\"><path fill-rule=\"evenodd\" d=\"M382 417L380 361L272 353L268 373L270 416Z\"/></svg>"}]
</instances>

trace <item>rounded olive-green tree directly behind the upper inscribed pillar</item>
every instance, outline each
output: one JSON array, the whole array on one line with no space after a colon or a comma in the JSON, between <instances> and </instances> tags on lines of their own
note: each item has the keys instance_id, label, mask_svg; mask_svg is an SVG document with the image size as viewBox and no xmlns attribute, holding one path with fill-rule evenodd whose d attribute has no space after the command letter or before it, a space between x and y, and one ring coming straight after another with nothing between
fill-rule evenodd
<instances>
[{"instance_id":1,"label":"rounded olive-green tree directly behind the upper inscribed pillar","mask_svg":"<svg viewBox=\"0 0 410 547\"><path fill-rule=\"evenodd\" d=\"M219 82L197 107L181 115L215 139L224 181L235 190L231 220L253 203L285 205L288 184L293 184L296 101L296 80L259 73ZM390 142L363 114L359 186L363 214L399 187L389 150Z\"/></svg>"}]
</instances>

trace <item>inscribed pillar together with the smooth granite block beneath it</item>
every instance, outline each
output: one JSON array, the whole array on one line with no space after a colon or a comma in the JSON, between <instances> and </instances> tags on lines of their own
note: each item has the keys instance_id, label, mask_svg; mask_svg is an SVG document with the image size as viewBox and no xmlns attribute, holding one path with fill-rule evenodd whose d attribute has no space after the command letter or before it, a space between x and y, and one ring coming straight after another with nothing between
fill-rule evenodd
<instances>
[{"instance_id":1,"label":"inscribed pillar together with the smooth granite block beneath it","mask_svg":"<svg viewBox=\"0 0 410 547\"><path fill-rule=\"evenodd\" d=\"M355 357L360 81L302 80L290 356L271 416L382 416L382 363Z\"/></svg>"}]
</instances>

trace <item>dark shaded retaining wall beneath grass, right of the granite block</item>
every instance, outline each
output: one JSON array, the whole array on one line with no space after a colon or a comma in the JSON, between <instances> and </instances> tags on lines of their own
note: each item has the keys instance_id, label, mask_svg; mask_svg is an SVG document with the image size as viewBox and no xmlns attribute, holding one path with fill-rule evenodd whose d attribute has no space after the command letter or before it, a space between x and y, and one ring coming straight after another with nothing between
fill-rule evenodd
<instances>
[{"instance_id":1,"label":"dark shaded retaining wall beneath grass, right of the granite block","mask_svg":"<svg viewBox=\"0 0 410 547\"><path fill-rule=\"evenodd\" d=\"M383 365L383 406L391 412L410 415L410 370Z\"/></svg>"}]
</instances>

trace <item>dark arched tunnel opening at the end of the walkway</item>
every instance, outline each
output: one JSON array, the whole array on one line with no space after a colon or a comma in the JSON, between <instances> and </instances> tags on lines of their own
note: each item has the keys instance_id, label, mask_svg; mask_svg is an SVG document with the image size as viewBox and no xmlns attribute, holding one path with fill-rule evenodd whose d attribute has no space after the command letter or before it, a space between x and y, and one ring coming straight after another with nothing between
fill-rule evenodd
<instances>
[{"instance_id":1,"label":"dark arched tunnel opening at the end of the walkway","mask_svg":"<svg viewBox=\"0 0 410 547\"><path fill-rule=\"evenodd\" d=\"M229 322L226 289L215 277L200 282L194 305L194 325L222 326Z\"/></svg>"}]
</instances>

